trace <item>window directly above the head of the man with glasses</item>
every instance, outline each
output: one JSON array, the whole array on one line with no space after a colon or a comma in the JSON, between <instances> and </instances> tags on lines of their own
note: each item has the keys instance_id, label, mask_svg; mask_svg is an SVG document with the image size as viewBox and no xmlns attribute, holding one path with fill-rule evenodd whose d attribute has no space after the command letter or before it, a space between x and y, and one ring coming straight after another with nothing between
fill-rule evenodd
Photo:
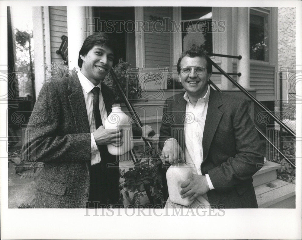
<instances>
[{"instance_id":1,"label":"window directly above the head of the man with glasses","mask_svg":"<svg viewBox=\"0 0 302 240\"><path fill-rule=\"evenodd\" d=\"M182 50L192 44L213 52L212 8L182 7Z\"/></svg>"}]
</instances>

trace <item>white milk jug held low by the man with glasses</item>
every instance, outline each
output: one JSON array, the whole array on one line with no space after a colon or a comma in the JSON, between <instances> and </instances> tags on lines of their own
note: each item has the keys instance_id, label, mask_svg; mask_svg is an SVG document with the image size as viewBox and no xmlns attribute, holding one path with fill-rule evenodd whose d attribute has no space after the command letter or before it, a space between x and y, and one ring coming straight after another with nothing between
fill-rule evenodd
<instances>
[{"instance_id":1,"label":"white milk jug held low by the man with glasses","mask_svg":"<svg viewBox=\"0 0 302 240\"><path fill-rule=\"evenodd\" d=\"M183 206L190 205L194 200L189 201L190 196L182 198L180 185L193 176L191 168L184 163L172 164L167 170L167 184L169 191L169 198L172 203L181 204Z\"/></svg>"}]
</instances>

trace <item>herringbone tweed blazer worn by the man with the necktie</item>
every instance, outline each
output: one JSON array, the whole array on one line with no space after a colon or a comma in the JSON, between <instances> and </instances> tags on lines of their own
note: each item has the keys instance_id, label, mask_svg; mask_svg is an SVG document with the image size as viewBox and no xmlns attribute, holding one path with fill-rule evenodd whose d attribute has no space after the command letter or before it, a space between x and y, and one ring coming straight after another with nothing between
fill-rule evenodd
<instances>
[{"instance_id":1,"label":"herringbone tweed blazer worn by the man with the necktie","mask_svg":"<svg viewBox=\"0 0 302 240\"><path fill-rule=\"evenodd\" d=\"M107 114L112 91L101 83ZM134 133L133 133L134 134ZM141 133L140 133L141 134ZM28 123L24 156L45 164L37 181L36 208L86 208L90 184L91 133L77 74L44 84ZM116 156L101 160L111 203L119 197ZM110 165L110 166L109 166Z\"/></svg>"}]
</instances>

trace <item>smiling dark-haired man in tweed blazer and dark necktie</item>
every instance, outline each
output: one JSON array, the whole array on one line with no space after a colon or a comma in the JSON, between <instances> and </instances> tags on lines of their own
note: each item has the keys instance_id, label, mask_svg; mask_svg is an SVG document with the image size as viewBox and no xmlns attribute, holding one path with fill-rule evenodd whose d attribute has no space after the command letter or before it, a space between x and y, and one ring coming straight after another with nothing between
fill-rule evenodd
<instances>
[{"instance_id":1,"label":"smiling dark-haired man in tweed blazer and dark necktie","mask_svg":"<svg viewBox=\"0 0 302 240\"><path fill-rule=\"evenodd\" d=\"M123 144L122 132L104 129L114 95L102 83L112 68L115 46L108 34L88 36L79 51L80 71L44 84L39 93L23 147L27 159L45 164L37 181L36 208L117 204L119 165L107 145ZM152 131L142 129L133 128L133 136Z\"/></svg>"}]
</instances>

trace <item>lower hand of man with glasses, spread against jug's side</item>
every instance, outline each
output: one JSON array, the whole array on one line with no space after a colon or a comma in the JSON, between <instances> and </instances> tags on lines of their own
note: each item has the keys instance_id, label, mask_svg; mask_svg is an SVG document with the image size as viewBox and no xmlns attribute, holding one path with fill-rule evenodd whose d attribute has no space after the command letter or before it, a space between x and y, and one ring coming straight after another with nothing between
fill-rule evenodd
<instances>
[{"instance_id":1,"label":"lower hand of man with glasses, spread against jug's side","mask_svg":"<svg viewBox=\"0 0 302 240\"><path fill-rule=\"evenodd\" d=\"M180 191L181 197L185 198L191 196L189 201L210 190L206 176L195 174L183 182L180 187L182 188L182 191Z\"/></svg>"}]
</instances>

